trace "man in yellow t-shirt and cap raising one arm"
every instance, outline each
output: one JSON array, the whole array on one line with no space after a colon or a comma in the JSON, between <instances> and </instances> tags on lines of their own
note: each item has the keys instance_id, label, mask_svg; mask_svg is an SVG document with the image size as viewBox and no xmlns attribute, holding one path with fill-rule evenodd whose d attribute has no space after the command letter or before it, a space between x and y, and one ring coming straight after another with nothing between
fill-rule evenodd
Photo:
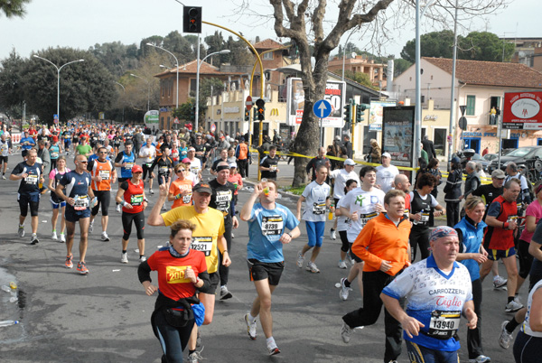
<instances>
[{"instance_id":1,"label":"man in yellow t-shirt and cap raising one arm","mask_svg":"<svg viewBox=\"0 0 542 363\"><path fill-rule=\"evenodd\" d=\"M160 210L167 198L170 181L160 185L158 200L147 220L149 226L171 226L176 220L186 219L194 223L197 227L193 233L192 248L205 253L207 262L207 272L210 276L210 288L206 291L200 291L200 300L205 306L205 319L203 325L208 325L214 315L215 291L220 283L218 251L224 256L222 265L231 264L229 253L224 238L224 216L220 211L209 208L210 195L212 190L209 184L200 183L194 186L192 206L184 206L172 209L160 215ZM195 328L195 327L194 327ZM191 356L195 357L197 362L199 353L196 351L198 330L192 330L191 340L189 341L189 361ZM191 362L192 363L192 362Z\"/></svg>"}]
</instances>

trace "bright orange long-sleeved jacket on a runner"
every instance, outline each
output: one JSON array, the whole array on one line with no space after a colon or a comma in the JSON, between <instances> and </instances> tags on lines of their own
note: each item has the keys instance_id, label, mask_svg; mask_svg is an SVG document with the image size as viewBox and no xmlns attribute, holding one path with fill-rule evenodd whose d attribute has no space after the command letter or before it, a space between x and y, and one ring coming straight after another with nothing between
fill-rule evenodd
<instances>
[{"instance_id":1,"label":"bright orange long-sleeved jacket on a runner","mask_svg":"<svg viewBox=\"0 0 542 363\"><path fill-rule=\"evenodd\" d=\"M365 265L363 271L379 271L382 261L391 261L388 275L397 275L410 261L408 256L408 236L410 222L403 217L396 227L395 223L380 213L361 228L352 245L352 252L360 257Z\"/></svg>"}]
</instances>

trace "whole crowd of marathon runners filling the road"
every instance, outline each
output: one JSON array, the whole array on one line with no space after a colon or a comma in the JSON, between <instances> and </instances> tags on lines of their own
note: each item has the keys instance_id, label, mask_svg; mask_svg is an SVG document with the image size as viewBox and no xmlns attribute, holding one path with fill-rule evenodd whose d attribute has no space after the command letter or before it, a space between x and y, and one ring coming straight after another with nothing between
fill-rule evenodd
<instances>
[{"instance_id":1,"label":"whole crowd of marathon runners filling the road","mask_svg":"<svg viewBox=\"0 0 542 363\"><path fill-rule=\"evenodd\" d=\"M472 176L472 165L467 164L464 192L461 178L449 178L444 192L455 193L453 202L464 200L463 210L457 220L448 218L448 226L435 226L450 207L435 198L439 178L433 172L418 172L413 187L391 165L387 153L380 155L377 167L364 165L355 171L356 163L349 158L333 160L332 170L332 161L321 148L307 164L311 181L292 211L276 202L280 170L272 143L260 150L264 157L258 168L264 179L254 185L248 201L237 206L252 160L248 135L187 129L156 134L148 127L133 126L31 127L21 137L23 160L9 179L19 182L18 236L25 236L30 209L30 243L39 245L40 201L50 197L51 239L66 244L65 267L73 268L77 261L82 275L89 274L86 252L95 224L101 240L113 238L107 224L111 192L117 190L116 211L123 227L122 237L115 236L121 241L119 261L128 263L127 246L135 228L139 280L146 294L158 295L151 321L164 362L182 361L186 347L189 362L201 361L200 330L212 321L215 294L220 300L233 296L228 289L229 250L241 222L248 222L248 241L242 243L247 244L248 271L256 289L244 316L248 337L257 340L259 316L267 353L280 353L273 337L271 296L285 268L283 245L300 237L299 223L304 220L306 244L295 262L309 273L320 273L316 263L328 219L334 219L331 239L339 232L337 265L345 270L337 284L338 298L349 298L356 278L363 298L362 307L345 312L338 323L344 343L350 342L355 329L374 324L384 306L384 362L397 361L402 340L412 362L457 362L457 331L463 316L469 361L489 362L482 348L481 284L492 271L493 286L508 289L504 312L514 315L502 323L499 336L486 331L483 340L498 339L508 349L513 331L521 325L514 344L516 361L536 362L540 357L542 228L537 222L542 218L542 183L529 188L514 164L506 173L493 172L489 184ZM13 145L6 131L0 137L6 164ZM75 165L72 170L68 162ZM202 177L206 169L210 181ZM473 184L474 177L479 182ZM153 186L157 200L149 204ZM453 205L454 215L456 208ZM74 260L76 224L79 258ZM168 246L148 257L145 225L171 229ZM508 279L499 275L499 260ZM155 284L151 271L158 273ZM524 307L519 290L529 275Z\"/></svg>"}]
</instances>

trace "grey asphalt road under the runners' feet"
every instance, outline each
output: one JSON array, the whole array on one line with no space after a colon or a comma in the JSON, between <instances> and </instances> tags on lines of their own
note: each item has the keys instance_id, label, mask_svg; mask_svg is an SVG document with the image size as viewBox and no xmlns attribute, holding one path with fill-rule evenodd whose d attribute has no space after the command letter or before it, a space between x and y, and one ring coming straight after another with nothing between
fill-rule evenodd
<instances>
[{"instance_id":1,"label":"grey asphalt road under the runners' feet","mask_svg":"<svg viewBox=\"0 0 542 363\"><path fill-rule=\"evenodd\" d=\"M20 159L20 155L10 156L9 172ZM279 167L286 172L285 165L281 163ZM18 302L12 303L10 294L0 291L0 321L21 321L18 325L0 328L0 361L159 362L162 351L149 322L155 297L146 296L137 279L135 236L128 246L129 264L119 262L120 214L110 208L110 242L100 241L99 232L90 235L87 255L90 274L79 275L75 269L69 270L63 265L65 246L49 238L48 195L42 198L40 208L40 244L29 245L29 221L26 237L16 236L17 185L15 181L0 181L0 284L15 281L19 297ZM239 209L247 198L248 191L241 191ZM152 206L156 196L150 196L150 200ZM293 210L295 201L288 196L279 200ZM273 296L274 336L282 353L273 358L266 356L266 341L259 321L257 340L249 340L247 336L243 316L256 293L248 280L245 259L248 225L241 222L230 249L233 263L229 290L234 297L227 302L219 302L217 298L213 322L201 329L202 356L206 362L382 361L383 314L374 326L356 330L350 344L341 340L341 316L359 308L361 297L354 287L347 302L339 298L335 284L346 271L337 267L340 241L332 241L328 236L331 226L326 227L324 246L317 260L320 274L311 274L295 265L296 253L306 243L304 224L300 226L302 236L285 246L285 272ZM95 230L100 230L98 219ZM167 234L168 228L145 228L147 256L157 246L164 245ZM77 261L77 247L74 255ZM504 275L503 266L500 270ZM493 362L511 362L511 349L500 349L497 341L501 321L509 318L509 314L504 313L506 292L494 291L489 279L483 288L485 352ZM525 301L525 288L521 295ZM460 331L463 342L465 332L463 326ZM468 361L466 343L460 357ZM398 361L408 361L406 349Z\"/></svg>"}]
</instances>

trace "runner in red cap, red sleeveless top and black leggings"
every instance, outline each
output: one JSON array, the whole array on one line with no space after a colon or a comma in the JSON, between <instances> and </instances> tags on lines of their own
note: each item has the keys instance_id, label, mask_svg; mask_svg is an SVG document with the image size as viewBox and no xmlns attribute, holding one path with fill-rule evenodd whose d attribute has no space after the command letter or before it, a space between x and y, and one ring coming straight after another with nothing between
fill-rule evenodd
<instances>
[{"instance_id":1,"label":"runner in red cap, red sleeveless top and black leggings","mask_svg":"<svg viewBox=\"0 0 542 363\"><path fill-rule=\"evenodd\" d=\"M145 182L143 181L143 168L132 166L132 177L119 182L117 197L118 205L122 204L122 255L120 262L128 263L128 241L132 234L132 221L137 233L137 248L139 249L139 262L145 262L145 208L148 200L145 197Z\"/></svg>"}]
</instances>

